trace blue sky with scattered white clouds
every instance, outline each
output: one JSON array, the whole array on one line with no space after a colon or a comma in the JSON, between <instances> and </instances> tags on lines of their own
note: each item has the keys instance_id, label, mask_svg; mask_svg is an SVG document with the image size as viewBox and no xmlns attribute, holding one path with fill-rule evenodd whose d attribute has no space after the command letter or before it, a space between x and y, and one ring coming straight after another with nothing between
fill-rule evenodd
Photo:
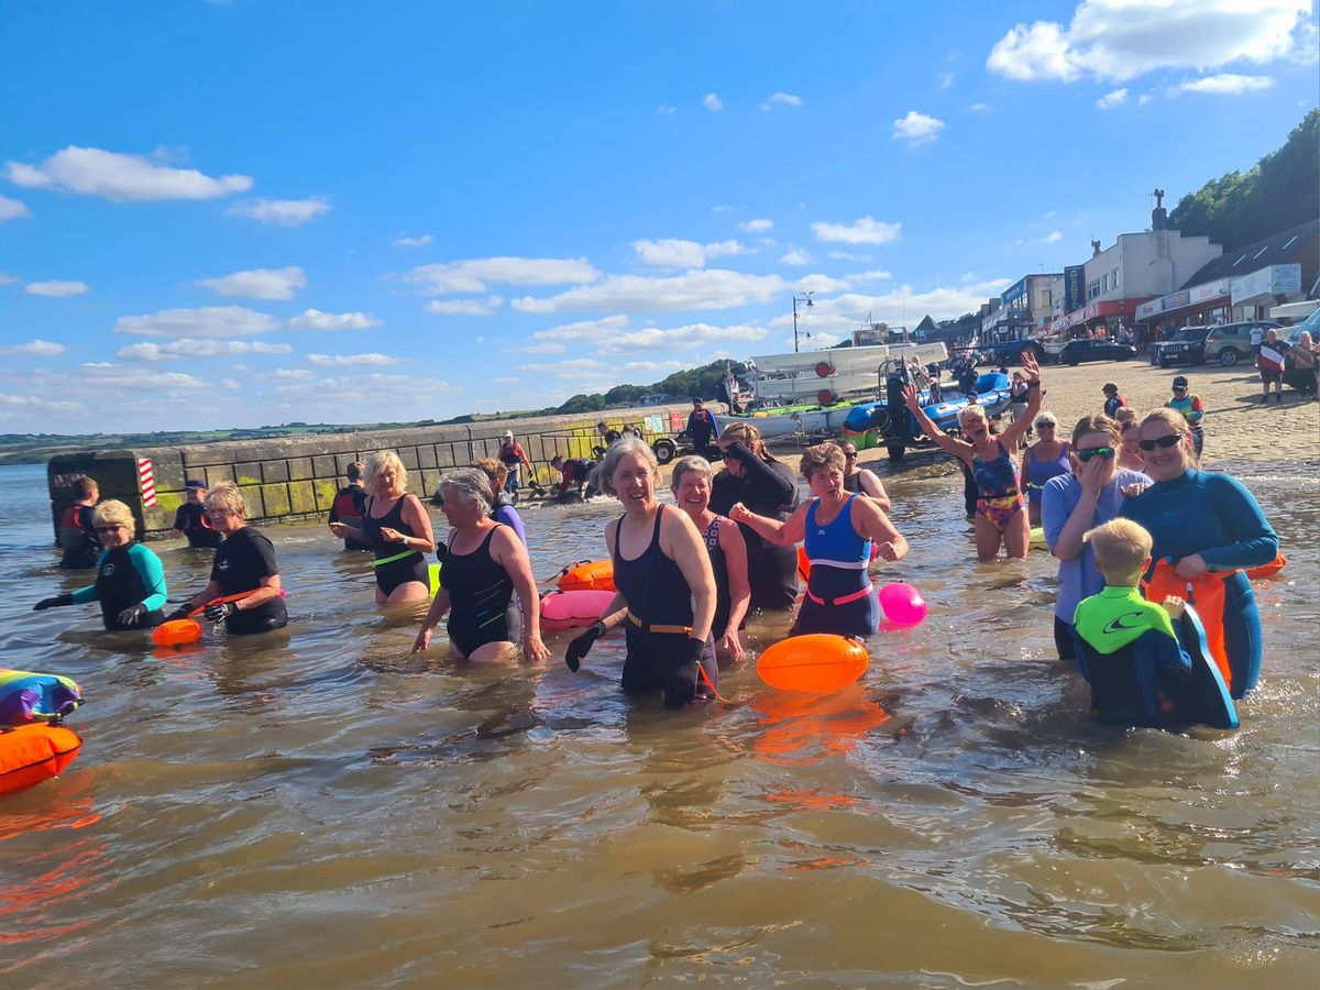
<instances>
[{"instance_id":1,"label":"blue sky with scattered white clouds","mask_svg":"<svg viewBox=\"0 0 1320 990\"><path fill-rule=\"evenodd\" d=\"M0 0L0 433L446 418L1057 272L1316 106L1312 0Z\"/></svg>"}]
</instances>

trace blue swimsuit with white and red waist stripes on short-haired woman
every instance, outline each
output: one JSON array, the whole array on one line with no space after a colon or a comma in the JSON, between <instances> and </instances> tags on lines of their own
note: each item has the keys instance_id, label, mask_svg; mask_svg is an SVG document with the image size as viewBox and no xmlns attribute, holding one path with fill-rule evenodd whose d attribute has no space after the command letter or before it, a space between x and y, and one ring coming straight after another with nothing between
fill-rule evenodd
<instances>
[{"instance_id":1,"label":"blue swimsuit with white and red waist stripes on short-haired woman","mask_svg":"<svg viewBox=\"0 0 1320 990\"><path fill-rule=\"evenodd\" d=\"M858 498L850 495L838 515L824 525L816 519L820 499L807 510L803 545L812 572L792 636L832 632L865 639L879 628L880 605L866 573L871 541L853 528L853 503Z\"/></svg>"}]
</instances>

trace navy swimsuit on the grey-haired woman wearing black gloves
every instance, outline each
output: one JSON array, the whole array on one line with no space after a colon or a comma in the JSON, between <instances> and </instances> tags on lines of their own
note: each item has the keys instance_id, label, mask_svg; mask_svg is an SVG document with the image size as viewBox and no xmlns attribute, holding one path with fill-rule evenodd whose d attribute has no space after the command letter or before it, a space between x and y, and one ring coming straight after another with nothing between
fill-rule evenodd
<instances>
[{"instance_id":1,"label":"navy swimsuit on the grey-haired woman wearing black gloves","mask_svg":"<svg viewBox=\"0 0 1320 990\"><path fill-rule=\"evenodd\" d=\"M656 510L651 543L634 560L622 553L623 516L615 524L614 586L628 603L624 690L664 690L667 677L684 660L686 640L692 636L692 589L678 565L660 548L660 520L665 508ZM719 671L711 636L706 636L701 665L710 682L717 684Z\"/></svg>"}]
</instances>

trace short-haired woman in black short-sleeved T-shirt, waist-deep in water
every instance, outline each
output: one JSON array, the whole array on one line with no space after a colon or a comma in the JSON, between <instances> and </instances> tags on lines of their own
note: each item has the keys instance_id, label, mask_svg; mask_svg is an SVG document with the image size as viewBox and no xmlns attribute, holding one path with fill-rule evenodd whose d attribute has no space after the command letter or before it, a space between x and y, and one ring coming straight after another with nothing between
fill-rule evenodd
<instances>
[{"instance_id":1,"label":"short-haired woman in black short-sleeved T-shirt, waist-deep in water","mask_svg":"<svg viewBox=\"0 0 1320 990\"><path fill-rule=\"evenodd\" d=\"M247 524L243 495L232 482L220 482L206 495L206 515L224 537L215 549L211 579L168 619L186 619L206 606L206 620L224 623L231 636L269 632L289 624L280 566L271 540ZM219 598L244 595L231 602Z\"/></svg>"}]
</instances>

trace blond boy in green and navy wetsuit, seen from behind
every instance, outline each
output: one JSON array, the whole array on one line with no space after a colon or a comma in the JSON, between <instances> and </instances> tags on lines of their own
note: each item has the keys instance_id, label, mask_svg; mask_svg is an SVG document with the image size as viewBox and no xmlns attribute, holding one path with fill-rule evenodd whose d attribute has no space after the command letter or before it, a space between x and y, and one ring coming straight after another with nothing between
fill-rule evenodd
<instances>
[{"instance_id":1,"label":"blond boy in green and navy wetsuit, seen from behind","mask_svg":"<svg viewBox=\"0 0 1320 990\"><path fill-rule=\"evenodd\" d=\"M1105 577L1098 595L1077 605L1073 636L1090 706L1104 722L1167 727L1191 692L1192 661L1173 632L1183 601L1147 602L1138 589L1151 562L1151 535L1130 519L1115 519L1082 537ZM1172 616L1172 618L1171 618ZM1189 713L1188 713L1189 714Z\"/></svg>"}]
</instances>

